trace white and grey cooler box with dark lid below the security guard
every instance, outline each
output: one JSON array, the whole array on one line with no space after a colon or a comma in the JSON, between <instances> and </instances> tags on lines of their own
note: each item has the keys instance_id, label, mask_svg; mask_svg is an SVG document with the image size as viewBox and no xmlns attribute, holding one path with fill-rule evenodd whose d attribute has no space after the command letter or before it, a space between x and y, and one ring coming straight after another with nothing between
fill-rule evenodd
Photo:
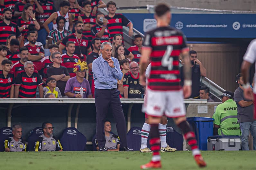
<instances>
[{"instance_id":1,"label":"white and grey cooler box with dark lid below the security guard","mask_svg":"<svg viewBox=\"0 0 256 170\"><path fill-rule=\"evenodd\" d=\"M207 150L240 150L240 136L209 136Z\"/></svg>"}]
</instances>

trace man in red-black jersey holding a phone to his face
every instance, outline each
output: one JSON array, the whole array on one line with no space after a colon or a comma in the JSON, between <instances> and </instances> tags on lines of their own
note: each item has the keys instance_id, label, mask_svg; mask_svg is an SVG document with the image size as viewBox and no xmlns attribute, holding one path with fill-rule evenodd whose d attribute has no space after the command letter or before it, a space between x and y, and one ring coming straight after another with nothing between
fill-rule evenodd
<instances>
[{"instance_id":1,"label":"man in red-black jersey holding a phone to his face","mask_svg":"<svg viewBox=\"0 0 256 170\"><path fill-rule=\"evenodd\" d=\"M105 19L104 14L98 12L96 14L96 24L91 28L92 37L98 37L103 42L110 42L110 34L107 28L107 19Z\"/></svg>"}]
</instances>

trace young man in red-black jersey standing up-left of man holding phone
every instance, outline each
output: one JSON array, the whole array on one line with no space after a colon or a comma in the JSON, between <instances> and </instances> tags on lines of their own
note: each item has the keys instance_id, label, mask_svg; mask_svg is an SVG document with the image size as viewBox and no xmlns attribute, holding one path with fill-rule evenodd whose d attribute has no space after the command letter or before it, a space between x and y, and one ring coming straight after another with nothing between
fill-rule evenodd
<instances>
[{"instance_id":1,"label":"young man in red-black jersey standing up-left of man holding phone","mask_svg":"<svg viewBox=\"0 0 256 170\"><path fill-rule=\"evenodd\" d=\"M91 15L92 6L90 1L84 1L82 7L85 13L78 16L78 21L82 21L84 23L83 35L85 35L89 39L89 41L91 41L91 28L95 25L96 19L94 15Z\"/></svg>"}]
</instances>

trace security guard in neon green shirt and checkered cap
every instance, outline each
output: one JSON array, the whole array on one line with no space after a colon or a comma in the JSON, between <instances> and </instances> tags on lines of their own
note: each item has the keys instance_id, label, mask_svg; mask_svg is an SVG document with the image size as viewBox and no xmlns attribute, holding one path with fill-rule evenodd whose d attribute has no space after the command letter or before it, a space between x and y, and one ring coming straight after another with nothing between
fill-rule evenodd
<instances>
[{"instance_id":1,"label":"security guard in neon green shirt and checkered cap","mask_svg":"<svg viewBox=\"0 0 256 170\"><path fill-rule=\"evenodd\" d=\"M222 104L216 108L213 118L214 135L238 135L240 136L240 127L237 121L237 106L233 100L233 93L224 91L220 96Z\"/></svg>"}]
</instances>

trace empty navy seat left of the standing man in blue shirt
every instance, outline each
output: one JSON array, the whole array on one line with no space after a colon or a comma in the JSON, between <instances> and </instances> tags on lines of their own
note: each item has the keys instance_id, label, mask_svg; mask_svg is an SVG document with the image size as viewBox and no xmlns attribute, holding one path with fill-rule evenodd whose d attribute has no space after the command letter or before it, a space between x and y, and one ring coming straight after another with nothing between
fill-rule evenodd
<instances>
[{"instance_id":1,"label":"empty navy seat left of the standing man in blue shirt","mask_svg":"<svg viewBox=\"0 0 256 170\"><path fill-rule=\"evenodd\" d=\"M66 128L60 137L63 151L84 151L86 142L86 137L74 127Z\"/></svg>"}]
</instances>

